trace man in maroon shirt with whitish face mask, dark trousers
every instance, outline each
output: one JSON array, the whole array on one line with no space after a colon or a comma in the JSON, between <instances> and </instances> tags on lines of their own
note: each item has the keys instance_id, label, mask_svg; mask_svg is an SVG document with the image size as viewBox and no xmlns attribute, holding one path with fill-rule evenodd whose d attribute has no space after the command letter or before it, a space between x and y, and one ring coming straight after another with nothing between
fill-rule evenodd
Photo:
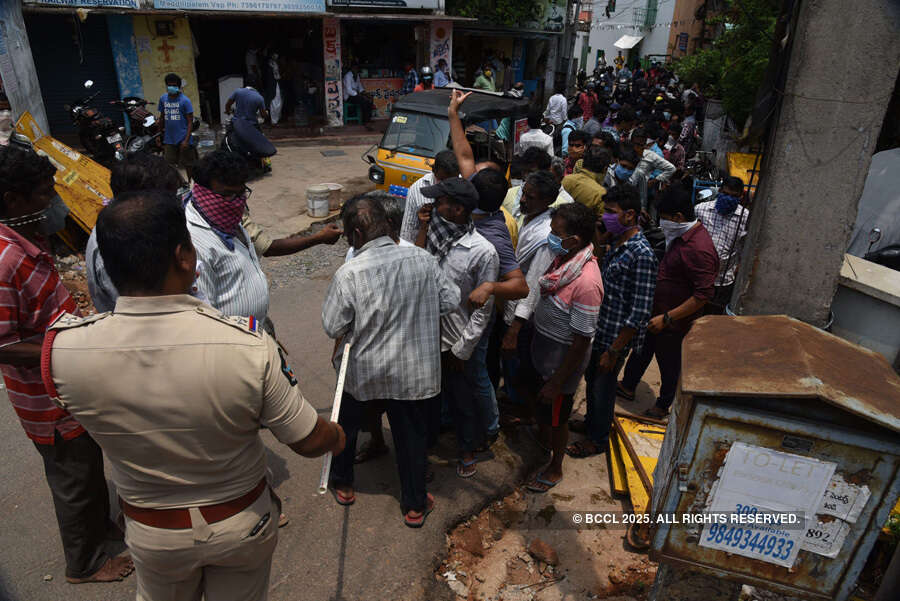
<instances>
[{"instance_id":1,"label":"man in maroon shirt with whitish face mask, dark trousers","mask_svg":"<svg viewBox=\"0 0 900 601\"><path fill-rule=\"evenodd\" d=\"M683 186L666 190L657 210L666 253L659 264L653 318L647 325L643 349L628 359L619 393L634 398L634 390L655 355L662 383L656 405L646 414L664 418L675 400L681 373L681 341L715 294L719 256L709 232L697 221L691 194Z\"/></svg>"}]
</instances>

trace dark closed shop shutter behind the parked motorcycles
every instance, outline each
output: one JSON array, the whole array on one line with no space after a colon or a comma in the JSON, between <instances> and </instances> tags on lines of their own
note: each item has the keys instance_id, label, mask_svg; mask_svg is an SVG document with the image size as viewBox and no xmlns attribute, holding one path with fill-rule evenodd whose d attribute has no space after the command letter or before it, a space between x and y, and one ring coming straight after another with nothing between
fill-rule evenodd
<instances>
[{"instance_id":1,"label":"dark closed shop shutter behind the parked motorcycles","mask_svg":"<svg viewBox=\"0 0 900 601\"><path fill-rule=\"evenodd\" d=\"M122 112L109 105L110 100L118 98L119 84L106 16L90 15L82 22L71 15L31 13L25 15L25 28L51 135L73 140L76 130L64 107L86 96L87 79L94 81L92 92L100 91L95 106L122 125Z\"/></svg>"}]
</instances>

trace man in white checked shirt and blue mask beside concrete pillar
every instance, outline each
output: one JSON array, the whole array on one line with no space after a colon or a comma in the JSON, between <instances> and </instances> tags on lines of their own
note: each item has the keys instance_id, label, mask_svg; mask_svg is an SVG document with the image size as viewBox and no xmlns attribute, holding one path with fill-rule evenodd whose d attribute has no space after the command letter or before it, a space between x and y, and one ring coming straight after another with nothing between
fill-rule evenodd
<instances>
[{"instance_id":1,"label":"man in white checked shirt and blue mask beside concrete pillar","mask_svg":"<svg viewBox=\"0 0 900 601\"><path fill-rule=\"evenodd\" d=\"M744 182L734 176L726 177L715 200L694 207L697 219L709 231L719 253L716 296L710 302L710 310L718 314L724 313L725 306L731 302L734 276L750 221L750 211L741 206L743 195Z\"/></svg>"}]
</instances>

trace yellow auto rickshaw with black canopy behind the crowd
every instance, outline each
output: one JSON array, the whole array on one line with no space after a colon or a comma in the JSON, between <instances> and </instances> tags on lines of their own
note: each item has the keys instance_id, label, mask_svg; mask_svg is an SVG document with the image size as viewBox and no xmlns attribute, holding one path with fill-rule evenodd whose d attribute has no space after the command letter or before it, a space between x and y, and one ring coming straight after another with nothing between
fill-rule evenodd
<instances>
[{"instance_id":1,"label":"yellow auto rickshaw with black canopy behind the crowd","mask_svg":"<svg viewBox=\"0 0 900 601\"><path fill-rule=\"evenodd\" d=\"M377 184L377 189L405 197L409 187L431 171L434 156L449 148L447 107L452 89L413 92L394 103L391 122L377 150L372 146L363 155L370 164L369 179ZM508 165L512 160L517 122L528 116L529 101L498 92L455 89L474 92L460 106L459 116L475 160Z\"/></svg>"}]
</instances>

